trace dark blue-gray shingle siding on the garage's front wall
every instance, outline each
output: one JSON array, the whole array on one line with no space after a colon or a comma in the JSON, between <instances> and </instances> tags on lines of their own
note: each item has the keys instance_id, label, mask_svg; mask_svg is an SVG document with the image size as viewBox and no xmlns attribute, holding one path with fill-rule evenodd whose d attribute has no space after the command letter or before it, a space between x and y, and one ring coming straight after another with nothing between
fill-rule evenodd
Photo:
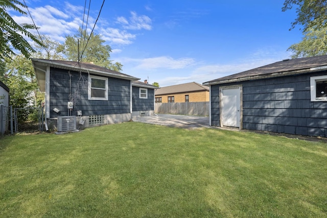
<instances>
[{"instance_id":1,"label":"dark blue-gray shingle siding on the garage's front wall","mask_svg":"<svg viewBox=\"0 0 327 218\"><path fill-rule=\"evenodd\" d=\"M243 129L327 137L327 102L310 99L310 77L326 74L238 83L243 85ZM213 85L212 125L219 126L219 118L219 85Z\"/></svg>"}]
</instances>

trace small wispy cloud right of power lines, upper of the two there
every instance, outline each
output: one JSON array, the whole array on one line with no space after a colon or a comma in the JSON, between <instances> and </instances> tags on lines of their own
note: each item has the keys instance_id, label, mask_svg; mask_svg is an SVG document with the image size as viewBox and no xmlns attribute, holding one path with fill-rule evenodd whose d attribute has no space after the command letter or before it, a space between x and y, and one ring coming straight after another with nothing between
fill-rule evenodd
<instances>
[{"instance_id":1,"label":"small wispy cloud right of power lines, upper of the two there","mask_svg":"<svg viewBox=\"0 0 327 218\"><path fill-rule=\"evenodd\" d=\"M116 18L116 22L123 25L124 29L127 30L151 30L151 19L150 17L146 15L138 16L136 12L131 12L131 17L129 18L129 21L125 17L118 17Z\"/></svg>"}]
</instances>

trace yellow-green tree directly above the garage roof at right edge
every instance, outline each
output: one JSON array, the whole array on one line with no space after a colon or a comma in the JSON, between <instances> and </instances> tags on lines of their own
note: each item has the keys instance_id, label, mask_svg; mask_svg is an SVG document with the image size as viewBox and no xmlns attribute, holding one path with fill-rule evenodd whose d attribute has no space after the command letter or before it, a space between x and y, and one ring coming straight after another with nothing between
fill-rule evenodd
<instances>
[{"instance_id":1,"label":"yellow-green tree directly above the garage roof at right edge","mask_svg":"<svg viewBox=\"0 0 327 218\"><path fill-rule=\"evenodd\" d=\"M292 58L327 55L327 28L318 30L310 28L299 43L292 44L287 51L292 52Z\"/></svg>"}]
</instances>

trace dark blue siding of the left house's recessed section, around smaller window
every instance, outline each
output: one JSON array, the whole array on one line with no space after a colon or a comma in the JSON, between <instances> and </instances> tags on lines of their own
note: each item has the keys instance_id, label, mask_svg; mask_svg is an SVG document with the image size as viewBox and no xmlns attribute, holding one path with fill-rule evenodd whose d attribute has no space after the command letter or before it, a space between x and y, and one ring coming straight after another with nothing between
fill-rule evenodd
<instances>
[{"instance_id":1,"label":"dark blue siding of the left house's recessed section, around smaller window","mask_svg":"<svg viewBox=\"0 0 327 218\"><path fill-rule=\"evenodd\" d=\"M149 111L154 110L154 89L148 88L148 98L140 99L139 98L139 87L132 87L132 105L133 111Z\"/></svg>"}]
</instances>

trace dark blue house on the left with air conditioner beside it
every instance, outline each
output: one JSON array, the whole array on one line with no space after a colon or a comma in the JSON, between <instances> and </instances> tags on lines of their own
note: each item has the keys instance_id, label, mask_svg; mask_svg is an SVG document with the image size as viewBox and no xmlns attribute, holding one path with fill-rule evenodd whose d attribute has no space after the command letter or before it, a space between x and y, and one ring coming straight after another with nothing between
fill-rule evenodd
<instances>
[{"instance_id":1,"label":"dark blue house on the left with air conditioner beside it","mask_svg":"<svg viewBox=\"0 0 327 218\"><path fill-rule=\"evenodd\" d=\"M134 90L140 93L138 78L92 63L32 59L32 64L40 91L45 92L47 128L56 128L67 116L75 116L80 128L126 122L132 119L133 105L142 105L132 98ZM138 95L144 102L142 111L153 111L154 88L145 86L146 96Z\"/></svg>"}]
</instances>

